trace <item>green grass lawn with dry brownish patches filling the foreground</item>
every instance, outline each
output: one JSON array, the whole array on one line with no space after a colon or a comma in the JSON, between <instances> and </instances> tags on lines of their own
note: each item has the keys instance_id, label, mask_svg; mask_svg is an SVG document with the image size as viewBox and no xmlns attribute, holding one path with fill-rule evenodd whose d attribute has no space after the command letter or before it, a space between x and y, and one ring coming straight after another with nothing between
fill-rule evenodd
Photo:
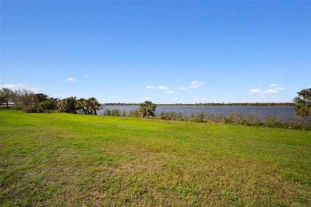
<instances>
[{"instance_id":1,"label":"green grass lawn with dry brownish patches filling the foreground","mask_svg":"<svg viewBox=\"0 0 311 207\"><path fill-rule=\"evenodd\" d=\"M0 110L1 206L311 206L311 132Z\"/></svg>"}]
</instances>

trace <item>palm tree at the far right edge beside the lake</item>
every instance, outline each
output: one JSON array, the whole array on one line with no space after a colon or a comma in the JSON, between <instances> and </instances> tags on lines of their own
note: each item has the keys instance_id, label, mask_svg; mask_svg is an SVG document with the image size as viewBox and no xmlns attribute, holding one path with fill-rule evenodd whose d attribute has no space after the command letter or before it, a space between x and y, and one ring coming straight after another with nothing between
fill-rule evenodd
<instances>
[{"instance_id":1,"label":"palm tree at the far right edge beside the lake","mask_svg":"<svg viewBox=\"0 0 311 207\"><path fill-rule=\"evenodd\" d=\"M294 111L297 116L305 117L311 115L311 87L297 92L294 98Z\"/></svg>"}]
</instances>

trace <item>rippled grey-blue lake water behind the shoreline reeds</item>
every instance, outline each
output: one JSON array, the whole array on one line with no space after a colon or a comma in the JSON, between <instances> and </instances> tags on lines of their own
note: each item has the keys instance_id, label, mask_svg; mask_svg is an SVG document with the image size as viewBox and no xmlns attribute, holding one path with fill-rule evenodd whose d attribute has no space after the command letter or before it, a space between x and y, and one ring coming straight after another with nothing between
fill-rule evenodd
<instances>
[{"instance_id":1,"label":"rippled grey-blue lake water behind the shoreline reeds","mask_svg":"<svg viewBox=\"0 0 311 207\"><path fill-rule=\"evenodd\" d=\"M138 105L106 105L105 109L138 110ZM105 109L101 109L98 115L103 114ZM243 115L258 114L261 117L269 115L286 116L286 119L294 119L294 106L189 106L189 105L157 105L155 114L159 116L161 112L183 112L184 116L190 117L194 112L207 112L208 114L227 115L233 112L241 112Z\"/></svg>"}]
</instances>

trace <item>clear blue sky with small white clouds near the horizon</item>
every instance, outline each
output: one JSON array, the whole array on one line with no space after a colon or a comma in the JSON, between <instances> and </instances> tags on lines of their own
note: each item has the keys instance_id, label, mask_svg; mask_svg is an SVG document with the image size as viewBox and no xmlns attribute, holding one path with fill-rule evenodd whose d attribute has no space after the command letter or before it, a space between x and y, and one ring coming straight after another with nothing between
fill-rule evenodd
<instances>
[{"instance_id":1,"label":"clear blue sky with small white clouds near the horizon","mask_svg":"<svg viewBox=\"0 0 311 207\"><path fill-rule=\"evenodd\" d=\"M1 1L0 87L100 103L292 102L311 1Z\"/></svg>"}]
</instances>

